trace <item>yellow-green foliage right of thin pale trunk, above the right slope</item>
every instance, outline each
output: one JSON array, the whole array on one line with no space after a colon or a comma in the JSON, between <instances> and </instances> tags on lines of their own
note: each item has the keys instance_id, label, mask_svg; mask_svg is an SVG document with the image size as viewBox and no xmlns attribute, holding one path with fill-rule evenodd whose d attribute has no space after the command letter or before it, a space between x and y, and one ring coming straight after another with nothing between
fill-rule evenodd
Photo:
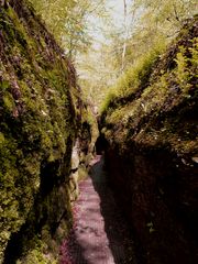
<instances>
[{"instance_id":1,"label":"yellow-green foliage right of thin pale trunk, above the right slope","mask_svg":"<svg viewBox=\"0 0 198 264\"><path fill-rule=\"evenodd\" d=\"M183 28L186 19L196 13L196 0L134 0L130 7L125 68L153 48L167 45Z\"/></svg>"}]
</instances>

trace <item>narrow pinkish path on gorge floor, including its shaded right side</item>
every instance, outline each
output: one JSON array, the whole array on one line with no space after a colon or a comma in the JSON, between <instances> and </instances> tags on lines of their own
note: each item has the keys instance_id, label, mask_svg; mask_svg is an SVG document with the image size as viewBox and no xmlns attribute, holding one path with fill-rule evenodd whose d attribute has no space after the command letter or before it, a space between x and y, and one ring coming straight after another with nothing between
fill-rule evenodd
<instances>
[{"instance_id":1,"label":"narrow pinkish path on gorge floor, including its shaded right side","mask_svg":"<svg viewBox=\"0 0 198 264\"><path fill-rule=\"evenodd\" d=\"M108 186L103 158L91 164L74 206L75 228L68 241L74 264L136 264L133 241ZM62 264L68 262L63 258Z\"/></svg>"}]
</instances>

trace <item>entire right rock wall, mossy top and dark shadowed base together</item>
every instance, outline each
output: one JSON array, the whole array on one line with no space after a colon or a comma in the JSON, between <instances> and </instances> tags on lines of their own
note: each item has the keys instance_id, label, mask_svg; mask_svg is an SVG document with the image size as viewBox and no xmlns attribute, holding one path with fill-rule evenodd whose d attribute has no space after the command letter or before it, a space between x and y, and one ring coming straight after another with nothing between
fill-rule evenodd
<instances>
[{"instance_id":1,"label":"entire right rock wall, mossy top and dark shadowed base together","mask_svg":"<svg viewBox=\"0 0 198 264\"><path fill-rule=\"evenodd\" d=\"M195 18L103 121L111 184L148 264L198 263L197 35Z\"/></svg>"}]
</instances>

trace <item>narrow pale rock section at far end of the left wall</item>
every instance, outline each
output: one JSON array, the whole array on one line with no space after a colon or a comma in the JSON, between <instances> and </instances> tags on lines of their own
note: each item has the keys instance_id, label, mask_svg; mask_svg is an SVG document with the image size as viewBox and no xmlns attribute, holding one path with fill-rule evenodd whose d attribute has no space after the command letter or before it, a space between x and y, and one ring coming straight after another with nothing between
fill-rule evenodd
<instances>
[{"instance_id":1,"label":"narrow pale rock section at far end of the left wall","mask_svg":"<svg viewBox=\"0 0 198 264\"><path fill-rule=\"evenodd\" d=\"M78 99L78 103L76 99ZM72 170L69 176L70 201L75 201L78 198L78 183L88 176L89 164L95 156L95 144L99 136L98 122L92 111L92 106L82 100L81 95L76 95L74 101L76 101L75 107L79 128L72 152Z\"/></svg>"}]
</instances>

